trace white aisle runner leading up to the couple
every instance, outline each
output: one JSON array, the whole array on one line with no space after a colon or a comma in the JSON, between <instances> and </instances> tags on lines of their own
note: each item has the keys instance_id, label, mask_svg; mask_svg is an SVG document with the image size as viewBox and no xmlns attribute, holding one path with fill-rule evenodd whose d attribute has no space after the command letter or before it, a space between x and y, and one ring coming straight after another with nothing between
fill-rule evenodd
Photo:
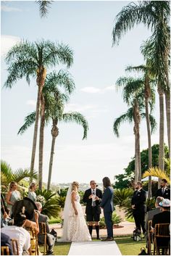
<instances>
[{"instance_id":1,"label":"white aisle runner leading up to the couple","mask_svg":"<svg viewBox=\"0 0 171 256\"><path fill-rule=\"evenodd\" d=\"M72 242L68 255L122 255L115 241Z\"/></svg>"}]
</instances>

